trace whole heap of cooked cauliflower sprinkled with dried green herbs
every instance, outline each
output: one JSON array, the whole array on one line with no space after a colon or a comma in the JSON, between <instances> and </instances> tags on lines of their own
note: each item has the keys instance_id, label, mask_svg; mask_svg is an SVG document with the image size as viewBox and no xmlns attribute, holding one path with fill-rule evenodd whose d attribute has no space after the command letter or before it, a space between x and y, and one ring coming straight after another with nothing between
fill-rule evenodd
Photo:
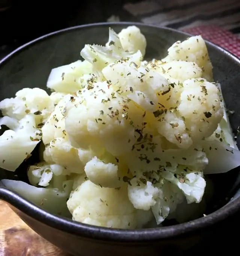
<instances>
[{"instance_id":1,"label":"whole heap of cooked cauliflower sprinkled with dried green herbs","mask_svg":"<svg viewBox=\"0 0 240 256\"><path fill-rule=\"evenodd\" d=\"M137 27L110 29L105 46L85 45L83 61L52 69L51 95L26 88L0 102L0 125L10 129L0 167L14 171L42 140L40 163L27 171L37 202L69 198L73 220L105 227L185 220L175 211L201 202L203 173L224 172L226 157L239 165L201 36L176 42L162 60L143 61L145 48Z\"/></svg>"}]
</instances>

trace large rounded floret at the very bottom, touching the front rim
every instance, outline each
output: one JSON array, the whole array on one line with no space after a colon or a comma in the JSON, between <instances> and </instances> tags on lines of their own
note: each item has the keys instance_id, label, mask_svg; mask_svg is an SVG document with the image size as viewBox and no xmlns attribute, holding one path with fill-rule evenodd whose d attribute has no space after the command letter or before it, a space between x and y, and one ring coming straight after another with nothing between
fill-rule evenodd
<instances>
[{"instance_id":1,"label":"large rounded floret at the very bottom, touching the front rim","mask_svg":"<svg viewBox=\"0 0 240 256\"><path fill-rule=\"evenodd\" d=\"M85 181L71 193L67 205L73 220L82 223L126 229L137 224L126 187L103 188Z\"/></svg>"}]
</instances>

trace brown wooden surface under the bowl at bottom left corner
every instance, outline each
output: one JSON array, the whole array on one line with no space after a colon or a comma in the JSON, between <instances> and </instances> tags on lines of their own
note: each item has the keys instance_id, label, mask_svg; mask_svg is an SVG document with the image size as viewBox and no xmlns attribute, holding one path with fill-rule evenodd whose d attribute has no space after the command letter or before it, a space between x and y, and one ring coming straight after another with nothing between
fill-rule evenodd
<instances>
[{"instance_id":1,"label":"brown wooden surface under the bowl at bottom left corner","mask_svg":"<svg viewBox=\"0 0 240 256\"><path fill-rule=\"evenodd\" d=\"M0 256L70 256L37 235L0 200Z\"/></svg>"}]
</instances>

